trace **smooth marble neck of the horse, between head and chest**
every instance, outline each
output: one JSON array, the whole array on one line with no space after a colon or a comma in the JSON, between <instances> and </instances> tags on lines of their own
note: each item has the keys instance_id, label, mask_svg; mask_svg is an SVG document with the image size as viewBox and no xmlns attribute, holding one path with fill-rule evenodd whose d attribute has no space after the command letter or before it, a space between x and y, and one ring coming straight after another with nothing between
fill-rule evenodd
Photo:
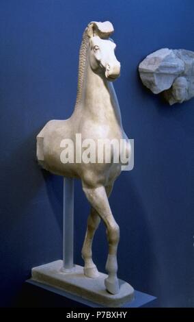
<instances>
[{"instance_id":1,"label":"smooth marble neck of the horse, between head and chest","mask_svg":"<svg viewBox=\"0 0 194 322\"><path fill-rule=\"evenodd\" d=\"M86 66L81 103L79 108L85 117L95 122L117 123L122 127L120 107L111 82L102 79L92 71L89 63Z\"/></svg>"}]
</instances>

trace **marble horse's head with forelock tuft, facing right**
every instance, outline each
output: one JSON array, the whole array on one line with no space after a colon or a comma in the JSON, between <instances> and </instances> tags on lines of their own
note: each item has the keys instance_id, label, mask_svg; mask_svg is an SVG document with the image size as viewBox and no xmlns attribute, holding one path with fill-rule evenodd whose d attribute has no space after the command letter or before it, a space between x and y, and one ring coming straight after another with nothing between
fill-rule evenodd
<instances>
[{"instance_id":1,"label":"marble horse's head with forelock tuft, facing right","mask_svg":"<svg viewBox=\"0 0 194 322\"><path fill-rule=\"evenodd\" d=\"M94 73L106 77L113 82L120 76L120 62L115 57L115 43L109 38L113 25L105 23L90 23L87 27L89 37L89 64Z\"/></svg>"}]
</instances>

